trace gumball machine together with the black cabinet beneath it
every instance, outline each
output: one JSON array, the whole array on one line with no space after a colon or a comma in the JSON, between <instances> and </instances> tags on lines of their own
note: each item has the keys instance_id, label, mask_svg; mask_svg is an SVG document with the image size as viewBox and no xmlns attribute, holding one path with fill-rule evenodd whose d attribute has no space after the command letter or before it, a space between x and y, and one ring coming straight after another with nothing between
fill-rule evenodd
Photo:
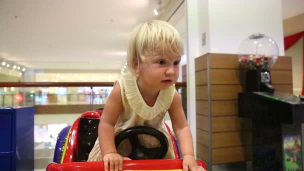
<instances>
[{"instance_id":1,"label":"gumball machine together with the black cabinet beneath it","mask_svg":"<svg viewBox=\"0 0 304 171\"><path fill-rule=\"evenodd\" d=\"M239 46L245 91L238 93L238 116L251 119L252 170L304 170L304 98L274 91L269 68L278 48L264 34Z\"/></svg>"}]
</instances>

